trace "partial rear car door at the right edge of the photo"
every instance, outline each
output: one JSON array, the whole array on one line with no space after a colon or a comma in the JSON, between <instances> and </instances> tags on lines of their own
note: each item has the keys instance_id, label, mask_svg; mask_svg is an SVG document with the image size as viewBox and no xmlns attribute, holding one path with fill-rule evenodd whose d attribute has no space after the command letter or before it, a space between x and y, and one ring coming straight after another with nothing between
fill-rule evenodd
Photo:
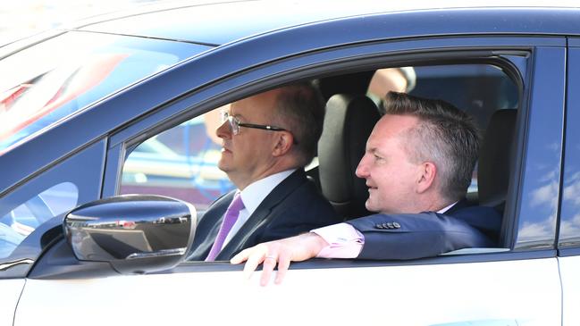
<instances>
[{"instance_id":1,"label":"partial rear car door at the right edge of the photo","mask_svg":"<svg viewBox=\"0 0 580 326\"><path fill-rule=\"evenodd\" d=\"M580 121L580 39L568 39L567 67L567 113L566 113L566 161L563 178L562 207L559 223L559 270L562 277L562 324L574 325L580 322L576 309L580 303L580 232L578 223L578 189L580 187L580 147L578 129Z\"/></svg>"}]
</instances>

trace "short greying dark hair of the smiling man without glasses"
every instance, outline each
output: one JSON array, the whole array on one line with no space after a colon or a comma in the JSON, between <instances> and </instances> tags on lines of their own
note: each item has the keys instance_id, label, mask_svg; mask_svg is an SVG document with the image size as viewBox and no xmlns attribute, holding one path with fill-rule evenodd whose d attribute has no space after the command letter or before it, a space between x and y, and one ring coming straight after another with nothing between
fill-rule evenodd
<instances>
[{"instance_id":1,"label":"short greying dark hair of the smiling man without glasses","mask_svg":"<svg viewBox=\"0 0 580 326\"><path fill-rule=\"evenodd\" d=\"M387 94L384 108L385 114L418 118L418 125L404 134L410 142L404 147L409 159L435 164L441 196L449 200L465 196L481 141L473 118L445 101L396 92Z\"/></svg>"}]
</instances>

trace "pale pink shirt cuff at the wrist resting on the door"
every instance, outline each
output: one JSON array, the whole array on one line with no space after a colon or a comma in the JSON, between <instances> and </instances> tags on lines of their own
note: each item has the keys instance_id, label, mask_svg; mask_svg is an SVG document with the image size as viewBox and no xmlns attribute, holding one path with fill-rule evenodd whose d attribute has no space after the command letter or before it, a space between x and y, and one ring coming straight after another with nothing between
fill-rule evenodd
<instances>
[{"instance_id":1,"label":"pale pink shirt cuff at the wrist resting on the door","mask_svg":"<svg viewBox=\"0 0 580 326\"><path fill-rule=\"evenodd\" d=\"M357 258L365 245L365 237L347 223L329 225L311 232L329 244L316 255L318 258Z\"/></svg>"}]
</instances>

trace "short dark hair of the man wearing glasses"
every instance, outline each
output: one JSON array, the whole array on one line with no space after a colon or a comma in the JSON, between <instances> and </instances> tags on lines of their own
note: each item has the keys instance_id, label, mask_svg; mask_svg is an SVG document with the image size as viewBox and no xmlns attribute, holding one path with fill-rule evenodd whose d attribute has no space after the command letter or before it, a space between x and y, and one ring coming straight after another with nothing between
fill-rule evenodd
<instances>
[{"instance_id":1,"label":"short dark hair of the man wearing glasses","mask_svg":"<svg viewBox=\"0 0 580 326\"><path fill-rule=\"evenodd\" d=\"M315 157L318 139L323 132L323 97L309 82L290 84L280 90L274 119L290 130L295 139L292 153L299 166L306 166Z\"/></svg>"}]
</instances>

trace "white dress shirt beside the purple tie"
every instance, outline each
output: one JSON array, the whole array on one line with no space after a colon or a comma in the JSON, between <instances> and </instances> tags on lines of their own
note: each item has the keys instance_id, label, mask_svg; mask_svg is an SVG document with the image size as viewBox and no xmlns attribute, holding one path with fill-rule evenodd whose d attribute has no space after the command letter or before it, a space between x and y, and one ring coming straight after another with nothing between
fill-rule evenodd
<instances>
[{"instance_id":1,"label":"white dress shirt beside the purple tie","mask_svg":"<svg viewBox=\"0 0 580 326\"><path fill-rule=\"evenodd\" d=\"M228 233L228 236L223 240L223 247L225 247L225 245L230 242L231 238L238 233L241 226L248 221L248 218L256 211L257 206L264 201L264 198L272 192L273 188L276 188L276 186L288 178L294 171L296 171L296 169L274 173L264 179L252 182L248 187L241 190L240 196L241 201L244 203L244 209L240 211L238 220L233 224L230 233Z\"/></svg>"}]
</instances>

